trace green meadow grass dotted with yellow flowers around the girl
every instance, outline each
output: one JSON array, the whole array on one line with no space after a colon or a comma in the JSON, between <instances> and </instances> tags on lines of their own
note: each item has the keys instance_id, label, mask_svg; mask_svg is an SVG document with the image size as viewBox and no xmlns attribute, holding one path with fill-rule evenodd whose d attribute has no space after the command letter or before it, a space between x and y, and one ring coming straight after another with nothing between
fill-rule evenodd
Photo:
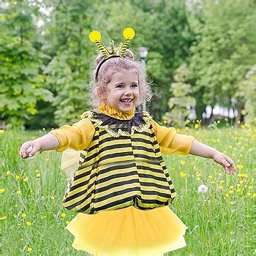
<instances>
[{"instance_id":1,"label":"green meadow grass dotted with yellow flowers around the girl","mask_svg":"<svg viewBox=\"0 0 256 256\"><path fill-rule=\"evenodd\" d=\"M211 159L165 156L178 194L170 207L188 227L187 246L166 255L255 253L256 129L243 128L181 131L231 157L238 166L235 176L225 175ZM64 230L76 213L61 206L66 185L59 169L61 154L19 157L21 143L43 134L0 135L0 255L86 255L72 248L73 237ZM197 192L200 184L206 184L207 193Z\"/></svg>"}]
</instances>

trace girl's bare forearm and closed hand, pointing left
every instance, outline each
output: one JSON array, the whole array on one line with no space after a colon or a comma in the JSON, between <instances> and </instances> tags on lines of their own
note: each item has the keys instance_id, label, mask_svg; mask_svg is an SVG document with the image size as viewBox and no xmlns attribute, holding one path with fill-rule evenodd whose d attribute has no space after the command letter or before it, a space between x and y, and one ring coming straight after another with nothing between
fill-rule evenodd
<instances>
[{"instance_id":1,"label":"girl's bare forearm and closed hand, pointing left","mask_svg":"<svg viewBox=\"0 0 256 256\"><path fill-rule=\"evenodd\" d=\"M58 139L48 133L36 140L29 140L20 147L20 156L23 158L33 157L37 151L53 150L58 148Z\"/></svg>"}]
</instances>

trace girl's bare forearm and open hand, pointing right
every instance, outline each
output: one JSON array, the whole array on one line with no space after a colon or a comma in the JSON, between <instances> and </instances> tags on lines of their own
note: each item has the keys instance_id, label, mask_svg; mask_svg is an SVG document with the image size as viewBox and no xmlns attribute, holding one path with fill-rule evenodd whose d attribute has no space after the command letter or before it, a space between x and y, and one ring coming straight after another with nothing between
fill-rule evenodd
<instances>
[{"instance_id":1,"label":"girl's bare forearm and open hand, pointing right","mask_svg":"<svg viewBox=\"0 0 256 256\"><path fill-rule=\"evenodd\" d=\"M236 171L236 165L232 159L217 151L215 148L200 143L198 140L193 140L189 154L214 159L214 162L222 165L225 171L228 169L230 174L233 174Z\"/></svg>"}]
</instances>

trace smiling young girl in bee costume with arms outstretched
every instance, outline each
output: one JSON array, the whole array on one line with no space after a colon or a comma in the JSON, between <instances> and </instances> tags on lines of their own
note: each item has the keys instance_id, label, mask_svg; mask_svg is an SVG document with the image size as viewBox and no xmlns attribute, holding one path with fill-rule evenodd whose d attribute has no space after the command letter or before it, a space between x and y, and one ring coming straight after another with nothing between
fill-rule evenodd
<instances>
[{"instance_id":1,"label":"smiling young girl in bee costume with arms outstretched","mask_svg":"<svg viewBox=\"0 0 256 256\"><path fill-rule=\"evenodd\" d=\"M187 227L168 207L176 192L162 154L211 158L229 173L236 166L216 149L160 126L147 112L135 112L152 96L143 63L124 47L102 48L99 34L94 37L102 51L91 85L94 110L72 126L23 143L20 155L80 151L63 201L64 207L80 212L67 225L75 249L119 256L162 255L184 247Z\"/></svg>"}]
</instances>

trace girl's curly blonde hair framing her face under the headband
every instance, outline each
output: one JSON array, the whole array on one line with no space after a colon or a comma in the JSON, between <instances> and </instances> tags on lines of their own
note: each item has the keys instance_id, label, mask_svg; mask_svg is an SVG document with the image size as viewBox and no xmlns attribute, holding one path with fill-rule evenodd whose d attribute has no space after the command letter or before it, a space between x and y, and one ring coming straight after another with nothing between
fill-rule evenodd
<instances>
[{"instance_id":1,"label":"girl's curly blonde hair framing her face under the headband","mask_svg":"<svg viewBox=\"0 0 256 256\"><path fill-rule=\"evenodd\" d=\"M94 110L98 110L99 106L105 102L106 88L111 80L113 73L121 69L135 69L138 75L139 83L139 100L137 105L144 101L149 102L153 96L151 84L146 81L146 67L144 61L136 60L132 50L127 49L124 58L111 58L105 61L99 69L97 78L96 72L100 62L104 59L102 53L99 53L95 59L95 65L91 74L91 83L89 91L91 92L91 106Z\"/></svg>"}]
</instances>

